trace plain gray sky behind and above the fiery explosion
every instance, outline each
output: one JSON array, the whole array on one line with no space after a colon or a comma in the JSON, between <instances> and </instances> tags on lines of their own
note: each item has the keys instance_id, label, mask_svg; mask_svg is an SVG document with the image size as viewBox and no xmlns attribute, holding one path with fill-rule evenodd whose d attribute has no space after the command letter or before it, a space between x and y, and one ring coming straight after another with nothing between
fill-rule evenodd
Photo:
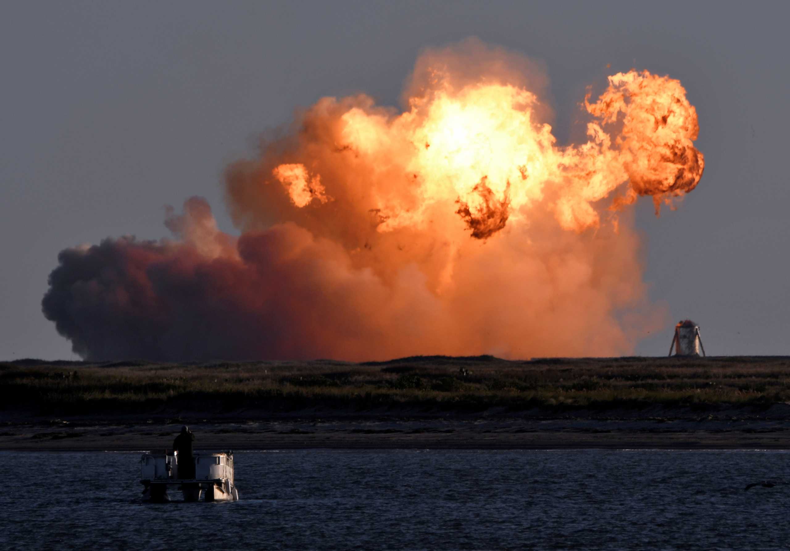
<instances>
[{"instance_id":1,"label":"plain gray sky behind and above the fiery explosion","mask_svg":"<svg viewBox=\"0 0 790 551\"><path fill-rule=\"evenodd\" d=\"M660 219L638 205L650 297L691 317L709 354L790 354L790 4L724 2L16 2L0 18L0 358L74 358L40 302L58 251L160 238L164 204L220 173L321 96L397 104L423 47L467 36L545 63L554 132L585 86L679 78L705 154ZM606 65L611 63L611 69ZM672 326L638 354L666 354Z\"/></svg>"}]
</instances>

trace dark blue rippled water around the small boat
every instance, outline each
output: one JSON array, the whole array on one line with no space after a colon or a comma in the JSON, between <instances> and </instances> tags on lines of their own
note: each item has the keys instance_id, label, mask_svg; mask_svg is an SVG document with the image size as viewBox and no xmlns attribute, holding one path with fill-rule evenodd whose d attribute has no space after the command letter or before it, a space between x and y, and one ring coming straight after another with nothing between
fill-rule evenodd
<instances>
[{"instance_id":1,"label":"dark blue rippled water around the small boat","mask_svg":"<svg viewBox=\"0 0 790 551\"><path fill-rule=\"evenodd\" d=\"M0 549L788 549L788 452L237 452L142 504L139 453L0 452ZM171 497L178 495L171 493Z\"/></svg>"}]
</instances>

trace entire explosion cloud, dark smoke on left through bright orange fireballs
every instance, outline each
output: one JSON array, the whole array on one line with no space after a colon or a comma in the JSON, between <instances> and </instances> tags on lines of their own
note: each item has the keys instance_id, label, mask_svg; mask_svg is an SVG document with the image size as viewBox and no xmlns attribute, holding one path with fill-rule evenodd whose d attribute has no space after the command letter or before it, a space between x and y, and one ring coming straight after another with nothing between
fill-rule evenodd
<instances>
[{"instance_id":1,"label":"entire explosion cloud, dark smoke on left through bright orange fireballs","mask_svg":"<svg viewBox=\"0 0 790 551\"><path fill-rule=\"evenodd\" d=\"M626 206L694 189L679 81L618 73L559 147L540 67L476 40L427 51L404 108L324 98L198 197L173 239L66 249L43 312L84 358L628 353L663 323Z\"/></svg>"}]
</instances>

